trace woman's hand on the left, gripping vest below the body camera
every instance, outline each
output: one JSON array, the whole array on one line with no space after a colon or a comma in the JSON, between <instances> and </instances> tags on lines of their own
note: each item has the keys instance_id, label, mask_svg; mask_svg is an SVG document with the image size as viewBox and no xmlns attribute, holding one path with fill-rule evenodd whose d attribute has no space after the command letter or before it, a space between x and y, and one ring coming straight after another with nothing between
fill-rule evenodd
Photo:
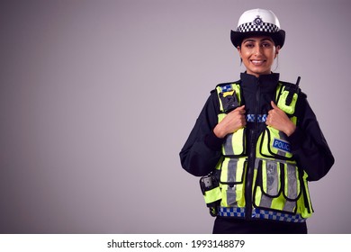
<instances>
[{"instance_id":1,"label":"woman's hand on the left, gripping vest below the body camera","mask_svg":"<svg viewBox=\"0 0 351 252\"><path fill-rule=\"evenodd\" d=\"M222 121L220 121L216 127L214 127L214 134L222 139L227 136L229 133L233 133L238 129L247 125L245 118L245 105L242 105L232 112L229 112Z\"/></svg>"}]
</instances>

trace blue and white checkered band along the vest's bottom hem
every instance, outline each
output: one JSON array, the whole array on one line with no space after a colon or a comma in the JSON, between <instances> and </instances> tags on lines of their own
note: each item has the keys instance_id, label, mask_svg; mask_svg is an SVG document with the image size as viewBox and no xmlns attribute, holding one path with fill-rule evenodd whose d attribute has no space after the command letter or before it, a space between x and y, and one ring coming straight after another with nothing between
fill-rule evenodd
<instances>
[{"instance_id":1,"label":"blue and white checkered band along the vest's bottom hem","mask_svg":"<svg viewBox=\"0 0 351 252\"><path fill-rule=\"evenodd\" d=\"M244 207L220 207L218 215L222 217L238 217L245 218ZM286 222L305 222L300 214L288 214L284 212L266 211L266 210L252 210L252 218L264 220L279 220Z\"/></svg>"}]
</instances>

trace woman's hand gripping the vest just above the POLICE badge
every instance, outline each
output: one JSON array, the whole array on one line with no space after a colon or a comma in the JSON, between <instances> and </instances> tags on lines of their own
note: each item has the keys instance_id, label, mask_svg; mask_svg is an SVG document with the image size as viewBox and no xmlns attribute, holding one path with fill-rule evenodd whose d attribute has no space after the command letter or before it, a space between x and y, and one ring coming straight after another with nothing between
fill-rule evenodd
<instances>
[{"instance_id":1,"label":"woman's hand gripping the vest just above the POLICE badge","mask_svg":"<svg viewBox=\"0 0 351 252\"><path fill-rule=\"evenodd\" d=\"M271 105L273 109L268 112L266 125L275 128L275 130L283 131L289 137L296 130L295 124L274 102L271 102Z\"/></svg>"}]
</instances>

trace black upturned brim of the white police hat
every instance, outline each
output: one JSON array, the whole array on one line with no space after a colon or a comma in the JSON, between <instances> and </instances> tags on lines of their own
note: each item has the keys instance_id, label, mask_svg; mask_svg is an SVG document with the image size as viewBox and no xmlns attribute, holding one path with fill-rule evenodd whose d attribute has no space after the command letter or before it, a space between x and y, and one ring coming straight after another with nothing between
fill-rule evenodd
<instances>
[{"instance_id":1,"label":"black upturned brim of the white police hat","mask_svg":"<svg viewBox=\"0 0 351 252\"><path fill-rule=\"evenodd\" d=\"M277 32L268 32L268 31L248 31L248 32L231 31L230 32L230 40L236 48L238 46L241 46L242 40L252 36L269 36L272 38L272 40L275 41L275 46L280 46L281 48L284 46L284 41L285 41L284 30L279 30Z\"/></svg>"}]
</instances>

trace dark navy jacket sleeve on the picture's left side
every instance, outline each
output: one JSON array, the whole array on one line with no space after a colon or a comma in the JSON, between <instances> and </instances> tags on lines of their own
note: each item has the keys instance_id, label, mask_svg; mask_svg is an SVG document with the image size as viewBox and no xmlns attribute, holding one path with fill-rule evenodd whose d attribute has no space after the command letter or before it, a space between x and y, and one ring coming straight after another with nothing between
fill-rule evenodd
<instances>
[{"instance_id":1,"label":"dark navy jacket sleeve on the picture's left side","mask_svg":"<svg viewBox=\"0 0 351 252\"><path fill-rule=\"evenodd\" d=\"M213 133L219 111L217 93L212 91L179 153L184 170L192 175L208 175L220 159L223 139Z\"/></svg>"}]
</instances>

